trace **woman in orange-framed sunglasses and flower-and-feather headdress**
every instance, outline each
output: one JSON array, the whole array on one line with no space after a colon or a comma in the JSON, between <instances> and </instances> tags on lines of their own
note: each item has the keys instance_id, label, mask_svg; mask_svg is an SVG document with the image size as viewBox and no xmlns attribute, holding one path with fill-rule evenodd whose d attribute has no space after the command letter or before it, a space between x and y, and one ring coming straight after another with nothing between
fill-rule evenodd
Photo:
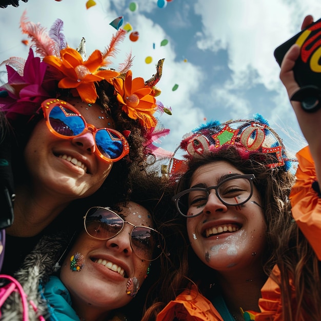
<instances>
[{"instance_id":1,"label":"woman in orange-framed sunglasses and flower-and-feather headdress","mask_svg":"<svg viewBox=\"0 0 321 321\"><path fill-rule=\"evenodd\" d=\"M24 13L21 28L39 56L30 49L26 61L6 61L8 83L0 87L0 111L9 124L8 143L0 145L5 155L0 199L7 205L0 222L7 234L4 273L16 270L58 217L55 226L77 215L67 209L74 200L91 196L103 184L104 197L125 194L128 173L146 159L148 135L157 125L160 91L154 85L163 61L144 82L132 77L131 57L118 71L109 66L126 31L117 31L108 49L87 58L85 39L77 50L70 48L62 26L57 19L50 32L44 31ZM37 41L36 30L43 34Z\"/></svg>"}]
</instances>

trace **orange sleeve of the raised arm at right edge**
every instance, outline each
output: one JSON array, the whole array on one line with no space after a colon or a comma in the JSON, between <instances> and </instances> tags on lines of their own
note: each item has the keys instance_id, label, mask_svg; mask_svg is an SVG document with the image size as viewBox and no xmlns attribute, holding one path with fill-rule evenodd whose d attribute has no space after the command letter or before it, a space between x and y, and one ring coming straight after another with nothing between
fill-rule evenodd
<instances>
[{"instance_id":1,"label":"orange sleeve of the raised arm at right edge","mask_svg":"<svg viewBox=\"0 0 321 321\"><path fill-rule=\"evenodd\" d=\"M290 193L292 215L317 258L321 260L321 198L312 188L312 183L316 180L314 162L308 146L296 156L299 165L296 182Z\"/></svg>"}]
</instances>

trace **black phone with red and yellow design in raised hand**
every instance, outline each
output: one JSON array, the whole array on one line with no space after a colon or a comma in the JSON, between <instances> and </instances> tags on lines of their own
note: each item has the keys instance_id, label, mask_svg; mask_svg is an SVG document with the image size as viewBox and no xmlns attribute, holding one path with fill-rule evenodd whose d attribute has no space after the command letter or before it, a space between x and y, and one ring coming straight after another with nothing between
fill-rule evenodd
<instances>
[{"instance_id":1,"label":"black phone with red and yellow design in raised hand","mask_svg":"<svg viewBox=\"0 0 321 321\"><path fill-rule=\"evenodd\" d=\"M321 88L321 19L274 50L279 66L293 44L298 44L301 48L293 68L296 82L300 87L314 85Z\"/></svg>"}]
</instances>

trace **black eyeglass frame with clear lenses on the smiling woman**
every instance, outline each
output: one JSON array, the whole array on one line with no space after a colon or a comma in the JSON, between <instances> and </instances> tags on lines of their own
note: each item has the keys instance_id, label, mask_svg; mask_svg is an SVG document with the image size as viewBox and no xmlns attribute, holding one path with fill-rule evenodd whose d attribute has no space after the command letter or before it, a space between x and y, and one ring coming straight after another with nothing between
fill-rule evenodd
<instances>
[{"instance_id":1,"label":"black eyeglass frame with clear lenses on the smiling woman","mask_svg":"<svg viewBox=\"0 0 321 321\"><path fill-rule=\"evenodd\" d=\"M249 197L248 197L246 200L244 200L243 202L240 202L240 203L237 203L237 204L228 204L228 203L226 203L226 202L219 196L219 194L218 194L218 192L217 192L217 189L218 189L222 184L228 182L229 180L236 179L236 178L246 178L246 179L248 179L249 182L250 182L250 186L251 186L251 192L250 192ZM212 190L212 189L214 189L217 198L218 198L218 199L220 200L220 202L222 202L224 205L226 205L226 206L239 206L239 205L242 205L242 204L248 202L248 200L252 197L252 195L253 195L253 180L254 180L254 179L255 179L255 175L254 175L254 174L242 174L242 175L231 176L231 177L228 177L228 178L222 180L222 182L219 182L219 184L217 184L216 186L210 186L210 187L207 187L207 188L204 188L204 187L192 187L192 188L189 188L189 189L187 189L187 190L185 190L185 191L182 191L182 192L174 195L174 196L172 197L172 201L175 203L176 209L177 209L177 211L178 211L178 213L179 213L180 215L182 215L182 216L184 216L184 217L196 217L196 216L202 214L203 211L201 211L201 212L199 212L199 213L197 213L197 214L195 214L195 215L185 215L185 214L183 214L183 213L180 211L179 206L178 206L179 198L182 197L183 195L185 195L185 194L187 194L187 193L190 193L190 192L193 192L193 191L204 191L204 192L206 192L206 194L207 194L207 200L206 200L206 203L207 203L208 197L209 197L209 194L210 194L209 191Z\"/></svg>"}]
</instances>

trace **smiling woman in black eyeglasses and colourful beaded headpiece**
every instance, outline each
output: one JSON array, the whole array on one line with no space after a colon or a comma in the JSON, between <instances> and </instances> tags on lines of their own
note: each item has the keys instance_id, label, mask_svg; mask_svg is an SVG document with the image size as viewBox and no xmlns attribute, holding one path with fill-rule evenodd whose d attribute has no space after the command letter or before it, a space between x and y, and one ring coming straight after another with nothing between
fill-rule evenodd
<instances>
[{"instance_id":1,"label":"smiling woman in black eyeglasses and colourful beaded headpiece","mask_svg":"<svg viewBox=\"0 0 321 321\"><path fill-rule=\"evenodd\" d=\"M210 122L178 149L186 160L173 157L169 175L190 246L165 277L172 300L162 311L155 300L146 320L254 319L279 235L291 226L294 159L260 115Z\"/></svg>"}]
</instances>

